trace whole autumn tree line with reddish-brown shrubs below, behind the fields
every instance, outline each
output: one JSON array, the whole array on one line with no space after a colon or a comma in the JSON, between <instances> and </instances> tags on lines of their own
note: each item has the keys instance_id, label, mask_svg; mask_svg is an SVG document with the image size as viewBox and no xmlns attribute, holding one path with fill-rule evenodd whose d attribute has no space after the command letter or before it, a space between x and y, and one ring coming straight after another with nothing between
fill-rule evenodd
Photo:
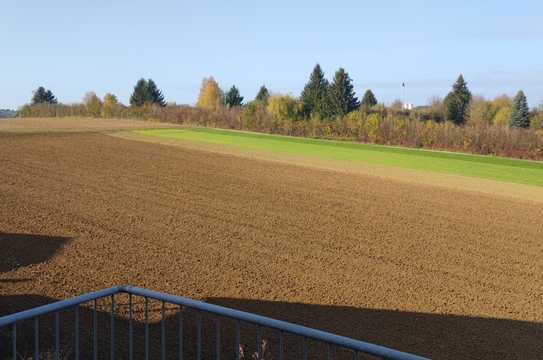
<instances>
[{"instance_id":1,"label":"whole autumn tree line with reddish-brown shrubs below, behind the fields","mask_svg":"<svg viewBox=\"0 0 543 360\"><path fill-rule=\"evenodd\" d=\"M299 96L274 93L262 85L246 101L236 86L222 90L208 77L195 106L176 105L165 102L152 79L140 79L128 106L114 94L99 98L94 92L85 94L80 103L62 104L41 88L18 116L140 118L543 160L543 106L530 110L522 91L514 98L473 96L461 75L445 98L414 109L406 109L400 100L385 106L371 89L359 99L344 69L329 81L316 65Z\"/></svg>"}]
</instances>

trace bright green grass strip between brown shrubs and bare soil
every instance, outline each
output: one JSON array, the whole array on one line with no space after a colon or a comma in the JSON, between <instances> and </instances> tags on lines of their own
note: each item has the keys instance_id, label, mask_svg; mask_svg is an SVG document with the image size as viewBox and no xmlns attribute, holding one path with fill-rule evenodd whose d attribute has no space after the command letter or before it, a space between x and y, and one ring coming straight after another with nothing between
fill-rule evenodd
<instances>
[{"instance_id":1,"label":"bright green grass strip between brown shrubs and bare soil","mask_svg":"<svg viewBox=\"0 0 543 360\"><path fill-rule=\"evenodd\" d=\"M250 132L191 128L134 130L141 135L224 145L240 150L477 177L543 186L543 162Z\"/></svg>"}]
</instances>

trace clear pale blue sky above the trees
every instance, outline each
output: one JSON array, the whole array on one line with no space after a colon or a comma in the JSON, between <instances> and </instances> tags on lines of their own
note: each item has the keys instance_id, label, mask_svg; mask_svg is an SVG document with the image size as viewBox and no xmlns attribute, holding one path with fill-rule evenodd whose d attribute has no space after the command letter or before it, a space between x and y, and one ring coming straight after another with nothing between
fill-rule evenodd
<instances>
[{"instance_id":1,"label":"clear pale blue sky above the trees","mask_svg":"<svg viewBox=\"0 0 543 360\"><path fill-rule=\"evenodd\" d=\"M315 63L344 67L361 96L424 104L459 73L474 94L523 89L543 100L543 1L6 0L0 6L0 108L43 85L61 102L113 92L138 78L168 101L194 103L201 79L266 84L298 95Z\"/></svg>"}]
</instances>

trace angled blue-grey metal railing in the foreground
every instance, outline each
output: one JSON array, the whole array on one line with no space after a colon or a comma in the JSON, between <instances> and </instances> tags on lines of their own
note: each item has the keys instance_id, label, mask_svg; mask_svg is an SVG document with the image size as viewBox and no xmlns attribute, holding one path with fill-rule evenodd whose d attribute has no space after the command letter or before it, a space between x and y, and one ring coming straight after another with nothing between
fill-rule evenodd
<instances>
[{"instance_id":1,"label":"angled blue-grey metal railing in the foreground","mask_svg":"<svg viewBox=\"0 0 543 360\"><path fill-rule=\"evenodd\" d=\"M120 339L119 333L121 332L117 327L116 323L120 322L121 315L118 313L120 311L121 303L117 303L117 299L121 296L128 296L127 303L122 304L125 311L125 318L127 319L127 324L123 323L124 330L123 338ZM135 350L135 298L143 299L142 302L138 303L139 307L143 307L141 311L138 312L138 315L143 316L143 328L141 329L144 333L143 341L138 345L141 351ZM107 327L109 330L105 337L106 341L109 342L109 355L104 354L104 349L100 352L99 349L99 327L98 327L98 301L102 299L108 299L109 311L106 311L108 316ZM159 311L157 311L157 321L158 325L157 331L154 332L156 336L153 337L153 346L159 348L159 356L151 356L151 329L150 329L150 301L155 301L160 304ZM89 306L90 305L90 306ZM175 327L171 326L172 324L167 324L167 321L171 323L171 319L167 320L166 311L171 310L171 306L175 305ZM85 311L87 312L87 317L90 323L90 331L85 332L82 336L82 325L81 325L81 310L85 306ZM167 307L170 307L167 309ZM184 343L187 342L186 337L188 333L186 332L183 323L183 316L187 313L187 310L194 312L195 317L195 326L194 334L191 334L191 337L194 340L191 344L192 356L187 356L186 351L189 346L184 346ZM64 311L73 311L70 315L70 325L71 330L65 329L65 322L61 324L60 313ZM104 315L104 312L102 312ZM210 345L209 341L206 343L206 338L203 336L203 328L205 325L209 325L209 321L204 323L202 315L213 315L214 320L211 321L210 332L214 332L212 336L212 344ZM44 306L35 307L26 311L21 311L12 315L0 317L0 330L4 329L4 332L9 335L8 339L3 343L5 346L0 348L0 360L4 359L19 359L21 358L19 354L19 348L21 344L18 344L18 336L22 329L19 328L19 324L23 322L30 322L30 326L25 330L30 330L32 335L30 336L30 341L27 341L27 346L30 346L32 358L35 360L40 359L42 353L40 352L40 337L45 336L43 334L43 326L40 326L40 321L44 317L48 316L48 325L45 328L45 331L49 332L48 337L50 338L47 346L42 346L43 348L48 349L48 354L54 359L61 359L61 329L63 332L70 333L70 343L71 351L70 358L80 359L80 358L92 358L92 359L102 359L110 358L114 360L118 356L119 344L125 351L126 356L123 358L134 359L134 358L160 358L162 359L186 359L189 357L195 358L197 360L202 360L204 358L214 358L220 360L221 355L224 356L223 348L225 347L224 343L221 343L221 319L228 320L233 322L233 326L229 331L229 336L233 338L230 346L231 358L236 360L243 359L266 359L273 358L274 360L283 360L286 358L286 341L285 338L287 335L296 336L302 341L301 354L295 356L295 358L302 358L304 360L309 359L310 351L310 341L314 342L316 345L313 347L315 352L318 352L322 355L322 358L332 359L334 356L334 349L343 349L347 351L352 359L361 359L363 354L371 355L377 358L382 359L397 359L397 360L416 360L424 359L423 357L412 355L409 353L397 351L390 349L384 346L375 345L372 343L354 340L348 337L339 336L325 331L316 330L313 328L292 324L285 321L275 320L265 316L260 316L244 311L234 310L218 305L213 305L205 303L202 301L196 301L185 297L174 296L169 294L164 294L156 291L151 291L143 288L133 287L133 286L115 286L109 289L103 289L91 293L87 293L81 296L74 297L69 300L58 301ZM52 319L51 319L52 317ZM66 318L65 316L63 316ZM102 323L103 323L102 317ZM250 324L252 327L256 327L256 336L255 338L255 351L251 352L251 355L248 357L247 354L243 351L243 345L241 344L241 325ZM43 324L42 324L43 325ZM119 326L120 327L120 326ZM85 328L86 329L86 328ZM173 329L173 331L172 331ZM271 329L276 333L276 341L274 341L273 350L269 350L266 347L266 343L263 341L263 331L264 329ZM7 330L7 331L6 331ZM154 329L153 329L154 330ZM169 333L167 334L169 330ZM206 328L207 330L207 328ZM42 334L40 334L40 331ZM172 334L175 333L175 334ZM104 331L102 329L101 343L104 345ZM160 333L158 336L156 333ZM88 335L88 336L87 336ZM20 336L19 336L20 337ZM85 345L88 349L88 353L84 354L82 351L82 338L85 337ZM172 339L175 341L175 346L167 346L166 342L171 342ZM137 339L140 340L140 339ZM43 341L42 341L43 342ZM155 344L156 343L156 344ZM207 345L204 345L206 343ZM0 346L2 343L0 343ZM159 344L159 345L157 345ZM318 344L318 345L317 345ZM88 346L87 346L88 345ZM141 346L142 345L142 346ZM212 353L212 356L204 357L204 347L209 350L208 353ZM172 351L173 350L173 351ZM266 352L266 354L264 354ZM271 353L275 355L270 355ZM270 357L271 356L271 357ZM230 357L229 357L230 358ZM313 357L312 357L313 358ZM64 359L64 357L62 357Z\"/></svg>"}]
</instances>

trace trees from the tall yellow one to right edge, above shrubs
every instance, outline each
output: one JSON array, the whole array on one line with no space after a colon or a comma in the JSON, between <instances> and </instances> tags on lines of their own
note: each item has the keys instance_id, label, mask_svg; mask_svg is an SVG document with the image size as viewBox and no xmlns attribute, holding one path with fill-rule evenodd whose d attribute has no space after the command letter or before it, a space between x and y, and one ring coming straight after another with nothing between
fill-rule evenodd
<instances>
[{"instance_id":1,"label":"trees from the tall yellow one to right edge, above shrubs","mask_svg":"<svg viewBox=\"0 0 543 360\"><path fill-rule=\"evenodd\" d=\"M232 87L228 94L233 90L239 96L235 86ZM272 103L268 106L270 98ZM227 99L228 97L223 97L217 82L213 78L206 78L202 82L197 106L216 110L222 105L242 105L241 100L239 103L232 103L225 101ZM243 99L243 97L240 97L240 99ZM298 98L284 94L270 95L268 89L262 86L255 99L244 104L244 107L249 112L254 112L254 107L264 105L267 106L270 113L278 113L290 120L307 120L315 117L334 119L355 111L370 114L383 113L388 110L404 116L413 113L419 120L450 121L455 125L468 123L472 118L472 114L473 122L484 121L488 124L507 124L512 128L529 128L532 120L534 120L534 125L537 128L540 128L543 124L542 109L534 109L530 112L526 96L522 90L513 99L506 96L501 96L499 99L503 100L500 106L506 110L506 121L503 119L503 112L496 118L490 117L490 109L485 116L481 116L479 113L481 103L491 107L492 102L487 102L481 97L473 99L464 77L460 75L443 100L433 100L429 106L422 106L415 110L405 109L400 100L396 100L389 107L386 107L384 104L378 103L371 89L366 90L361 101L359 101L354 91L352 79L345 69L340 68L337 70L333 80L329 82L324 76L320 65L317 64Z\"/></svg>"}]
</instances>

